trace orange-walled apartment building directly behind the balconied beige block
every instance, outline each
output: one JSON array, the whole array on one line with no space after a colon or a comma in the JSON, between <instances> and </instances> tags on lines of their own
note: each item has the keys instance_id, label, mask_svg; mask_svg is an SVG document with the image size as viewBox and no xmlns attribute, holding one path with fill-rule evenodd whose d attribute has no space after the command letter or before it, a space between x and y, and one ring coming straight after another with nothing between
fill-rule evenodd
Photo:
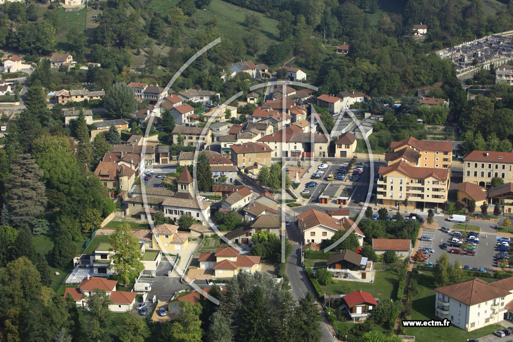
<instances>
[{"instance_id":1,"label":"orange-walled apartment building directly behind the balconied beige block","mask_svg":"<svg viewBox=\"0 0 513 342\"><path fill-rule=\"evenodd\" d=\"M405 162L421 168L448 169L452 164L452 143L440 140L418 140L409 137L391 142L392 152L385 155L387 165Z\"/></svg>"}]
</instances>

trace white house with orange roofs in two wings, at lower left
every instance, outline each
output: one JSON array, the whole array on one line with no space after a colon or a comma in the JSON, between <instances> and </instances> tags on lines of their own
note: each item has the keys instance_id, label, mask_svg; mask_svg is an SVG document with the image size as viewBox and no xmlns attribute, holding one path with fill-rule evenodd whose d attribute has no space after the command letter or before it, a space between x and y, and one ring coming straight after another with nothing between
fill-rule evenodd
<instances>
[{"instance_id":1,"label":"white house with orange roofs in two wings, at lower left","mask_svg":"<svg viewBox=\"0 0 513 342\"><path fill-rule=\"evenodd\" d=\"M96 292L97 290L105 291L110 297L111 304L109 304L109 311L113 312L128 312L132 310L135 304L136 292L116 291L116 280L107 280L104 277L90 277L84 278L82 283L76 288L66 288L64 296L68 293L73 297L78 307L85 307L86 297Z\"/></svg>"}]
</instances>

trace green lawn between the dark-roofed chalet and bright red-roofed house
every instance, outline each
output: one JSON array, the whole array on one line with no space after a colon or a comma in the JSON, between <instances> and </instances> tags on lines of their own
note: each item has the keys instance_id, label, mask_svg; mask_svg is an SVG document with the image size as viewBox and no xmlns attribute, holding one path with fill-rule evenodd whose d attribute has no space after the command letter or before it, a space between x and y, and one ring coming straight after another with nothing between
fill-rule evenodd
<instances>
[{"instance_id":1,"label":"green lawn between the dark-roofed chalet and bright red-roofed house","mask_svg":"<svg viewBox=\"0 0 513 342\"><path fill-rule=\"evenodd\" d=\"M305 259L305 263L306 263ZM358 283L356 281L339 280L336 284L321 286L328 294L343 294L343 286L349 286L352 291L362 290L371 293L377 298L396 299L397 287L399 286L397 273L393 270L376 272L374 283Z\"/></svg>"}]
</instances>

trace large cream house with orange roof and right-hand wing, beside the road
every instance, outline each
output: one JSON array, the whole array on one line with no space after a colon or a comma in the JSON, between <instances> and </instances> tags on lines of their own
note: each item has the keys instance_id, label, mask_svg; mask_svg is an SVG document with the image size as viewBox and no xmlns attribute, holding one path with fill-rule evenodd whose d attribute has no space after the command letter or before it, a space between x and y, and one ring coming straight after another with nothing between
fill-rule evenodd
<instances>
[{"instance_id":1,"label":"large cream house with orange roof and right-hand wing, beside the road","mask_svg":"<svg viewBox=\"0 0 513 342\"><path fill-rule=\"evenodd\" d=\"M363 245L365 235L360 228L354 225L354 222L347 217L337 219L324 212L310 209L297 215L296 222L298 223L299 231L303 234L303 244L313 242L314 244L320 245L323 240L328 240L333 237L337 231L347 231L354 226L354 234L356 234L360 246Z\"/></svg>"}]
</instances>

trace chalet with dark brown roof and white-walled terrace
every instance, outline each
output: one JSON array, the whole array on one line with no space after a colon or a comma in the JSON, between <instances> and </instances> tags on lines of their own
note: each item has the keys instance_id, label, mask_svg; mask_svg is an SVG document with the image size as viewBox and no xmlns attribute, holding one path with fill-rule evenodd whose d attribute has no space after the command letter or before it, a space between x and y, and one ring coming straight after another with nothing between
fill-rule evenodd
<instances>
[{"instance_id":1,"label":"chalet with dark brown roof and white-walled terrace","mask_svg":"<svg viewBox=\"0 0 513 342\"><path fill-rule=\"evenodd\" d=\"M333 277L356 281L371 281L374 278L372 261L349 249L331 254L326 265Z\"/></svg>"}]
</instances>

